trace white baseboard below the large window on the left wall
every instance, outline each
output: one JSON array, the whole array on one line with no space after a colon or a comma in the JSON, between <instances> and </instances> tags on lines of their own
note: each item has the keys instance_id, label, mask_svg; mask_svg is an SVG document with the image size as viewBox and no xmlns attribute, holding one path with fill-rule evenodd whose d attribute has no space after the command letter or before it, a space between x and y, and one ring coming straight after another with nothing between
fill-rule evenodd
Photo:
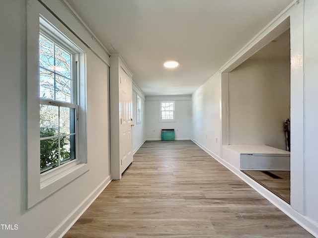
<instances>
[{"instance_id":1,"label":"white baseboard below the large window on the left wall","mask_svg":"<svg viewBox=\"0 0 318 238\"><path fill-rule=\"evenodd\" d=\"M47 236L47 238L63 238L110 182L111 179L110 176L108 176Z\"/></svg>"}]
</instances>

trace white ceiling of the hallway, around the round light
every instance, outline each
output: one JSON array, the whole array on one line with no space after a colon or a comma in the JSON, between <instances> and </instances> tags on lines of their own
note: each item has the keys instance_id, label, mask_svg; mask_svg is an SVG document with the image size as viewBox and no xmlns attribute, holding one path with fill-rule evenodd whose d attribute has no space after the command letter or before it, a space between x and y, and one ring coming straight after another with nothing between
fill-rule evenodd
<instances>
[{"instance_id":1,"label":"white ceiling of the hallway, around the round light","mask_svg":"<svg viewBox=\"0 0 318 238\"><path fill-rule=\"evenodd\" d=\"M68 0L146 95L192 94L292 1Z\"/></svg>"}]
</instances>

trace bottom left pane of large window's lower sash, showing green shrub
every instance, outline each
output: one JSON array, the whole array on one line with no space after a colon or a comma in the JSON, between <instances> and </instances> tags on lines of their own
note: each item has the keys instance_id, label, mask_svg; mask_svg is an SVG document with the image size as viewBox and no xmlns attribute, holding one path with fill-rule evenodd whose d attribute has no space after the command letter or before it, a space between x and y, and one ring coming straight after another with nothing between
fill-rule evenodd
<instances>
[{"instance_id":1,"label":"bottom left pane of large window's lower sash, showing green shrub","mask_svg":"<svg viewBox=\"0 0 318 238\"><path fill-rule=\"evenodd\" d=\"M40 166L41 173L59 165L59 139L40 141Z\"/></svg>"}]
</instances>

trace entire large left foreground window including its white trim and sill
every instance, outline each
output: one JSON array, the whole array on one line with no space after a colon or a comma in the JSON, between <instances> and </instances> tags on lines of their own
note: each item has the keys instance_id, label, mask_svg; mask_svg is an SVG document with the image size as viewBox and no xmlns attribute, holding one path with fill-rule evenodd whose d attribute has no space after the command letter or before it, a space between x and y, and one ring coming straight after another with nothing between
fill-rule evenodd
<instances>
[{"instance_id":1,"label":"entire large left foreground window including its white trim and sill","mask_svg":"<svg viewBox=\"0 0 318 238\"><path fill-rule=\"evenodd\" d=\"M50 19L28 10L28 208L89 170L86 55L81 50L87 48Z\"/></svg>"}]
</instances>

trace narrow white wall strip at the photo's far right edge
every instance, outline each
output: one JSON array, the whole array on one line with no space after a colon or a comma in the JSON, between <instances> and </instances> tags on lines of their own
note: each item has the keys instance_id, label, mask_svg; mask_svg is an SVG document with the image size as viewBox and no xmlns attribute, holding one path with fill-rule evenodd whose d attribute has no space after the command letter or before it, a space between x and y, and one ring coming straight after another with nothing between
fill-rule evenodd
<instances>
[{"instance_id":1,"label":"narrow white wall strip at the photo's far right edge","mask_svg":"<svg viewBox=\"0 0 318 238\"><path fill-rule=\"evenodd\" d=\"M305 207L309 218L318 223L318 1L305 1Z\"/></svg>"}]
</instances>

